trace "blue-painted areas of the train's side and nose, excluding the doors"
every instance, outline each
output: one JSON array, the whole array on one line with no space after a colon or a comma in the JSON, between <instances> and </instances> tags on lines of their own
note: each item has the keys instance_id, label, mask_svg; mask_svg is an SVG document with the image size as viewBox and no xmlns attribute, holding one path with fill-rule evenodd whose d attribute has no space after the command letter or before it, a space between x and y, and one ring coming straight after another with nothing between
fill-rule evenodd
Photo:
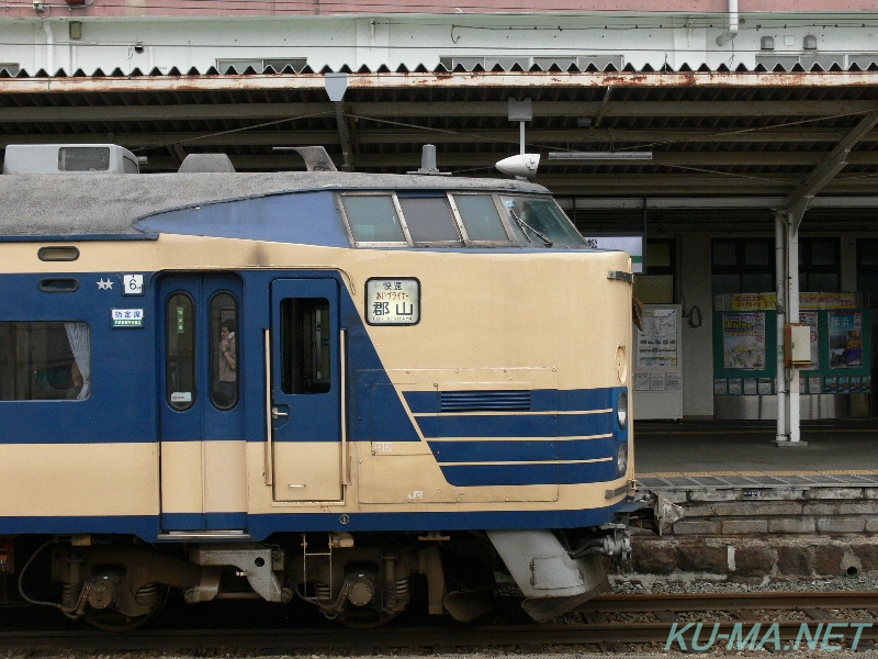
<instances>
[{"instance_id":1,"label":"blue-painted areas of the train's side and nose, excluding the doors","mask_svg":"<svg viewBox=\"0 0 878 659\"><path fill-rule=\"evenodd\" d=\"M468 414L472 392L406 392L406 405L390 381L353 300L334 271L258 270L237 271L246 295L241 300L239 351L243 364L248 442L264 442L264 359L262 328L268 326L270 282L277 278L331 277L339 282L340 326L348 331L349 439L351 442L419 442L406 405L416 415L442 472L454 485L528 485L615 480L615 453L627 439L627 431L615 424L620 389L576 391L533 390L496 396L487 392L488 406L503 415ZM125 297L119 272L74 275L66 272L0 276L0 321L82 321L91 327L92 391L85 401L0 401L0 443L99 444L156 443L159 438L159 405L162 400L157 360L157 325L162 300L156 294L160 273L144 272L144 295ZM74 292L45 293L40 280L75 277ZM99 281L112 280L106 290ZM143 327L113 328L113 308L143 308ZM252 350L250 358L248 350ZM480 395L486 392L479 392ZM444 398L443 398L444 396ZM442 412L444 404L446 412ZM525 407L526 405L526 407ZM612 410L612 413L593 413ZM528 411L530 415L516 414ZM436 415L442 412L439 421ZM486 425L486 421L487 425ZM327 420L329 423L330 420ZM431 425L434 424L434 425ZM493 427L493 429L492 429ZM432 429L431 429L432 428ZM497 428L502 428L502 432ZM553 429L554 428L554 429ZM578 439L582 435L610 437ZM561 436L561 438L558 437ZM463 439L469 437L470 439ZM474 437L489 437L475 440ZM526 437L522 439L522 437ZM542 442L539 438L545 438ZM604 450L606 449L606 450ZM469 456L465 454L469 453ZM468 459L464 459L468 458ZM574 462L605 458L600 462ZM82 459L89 459L83 449ZM504 465L494 462L503 461ZM506 462L514 462L511 465ZM517 462L517 463L515 463ZM75 469L75 466L71 466ZM112 466L108 466L112 468ZM40 478L40 473L35 474ZM244 511L209 513L219 526L248 527L261 539L278 530L359 530L499 527L572 527L605 523L618 506L596 510L459 513L450 505L442 513L360 513L347 523L333 513L284 513L249 515ZM245 523L246 520L246 523ZM154 540L158 516L0 517L0 533L120 533Z\"/></svg>"}]
</instances>

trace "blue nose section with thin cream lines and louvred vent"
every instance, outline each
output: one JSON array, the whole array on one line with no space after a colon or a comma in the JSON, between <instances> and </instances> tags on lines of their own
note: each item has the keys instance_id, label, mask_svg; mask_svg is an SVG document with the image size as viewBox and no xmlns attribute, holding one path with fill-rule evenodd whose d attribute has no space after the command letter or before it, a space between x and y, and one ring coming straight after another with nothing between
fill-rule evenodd
<instances>
[{"instance_id":1,"label":"blue nose section with thin cream lines and louvred vent","mask_svg":"<svg viewBox=\"0 0 878 659\"><path fill-rule=\"evenodd\" d=\"M571 484L619 478L628 440L617 410L624 388L405 392L449 483Z\"/></svg>"}]
</instances>

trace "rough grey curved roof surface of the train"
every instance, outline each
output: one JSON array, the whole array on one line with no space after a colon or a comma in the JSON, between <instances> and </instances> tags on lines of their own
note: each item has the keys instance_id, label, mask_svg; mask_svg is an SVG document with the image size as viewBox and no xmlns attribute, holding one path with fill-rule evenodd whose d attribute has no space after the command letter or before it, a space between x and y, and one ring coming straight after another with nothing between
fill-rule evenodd
<instances>
[{"instance_id":1,"label":"rough grey curved roof surface of the train","mask_svg":"<svg viewBox=\"0 0 878 659\"><path fill-rule=\"evenodd\" d=\"M7 239L155 237L137 221L175 209L320 190L453 190L548 194L511 179L340 171L0 176Z\"/></svg>"}]
</instances>

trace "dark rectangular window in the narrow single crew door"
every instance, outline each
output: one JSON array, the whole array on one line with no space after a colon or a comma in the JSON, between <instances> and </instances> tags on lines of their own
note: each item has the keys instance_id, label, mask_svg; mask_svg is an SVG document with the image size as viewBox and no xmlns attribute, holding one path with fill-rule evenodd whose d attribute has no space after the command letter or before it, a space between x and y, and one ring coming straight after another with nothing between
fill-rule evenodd
<instances>
[{"instance_id":1,"label":"dark rectangular window in the narrow single crew door","mask_svg":"<svg viewBox=\"0 0 878 659\"><path fill-rule=\"evenodd\" d=\"M329 391L331 346L329 301L289 298L281 301L281 390Z\"/></svg>"}]
</instances>

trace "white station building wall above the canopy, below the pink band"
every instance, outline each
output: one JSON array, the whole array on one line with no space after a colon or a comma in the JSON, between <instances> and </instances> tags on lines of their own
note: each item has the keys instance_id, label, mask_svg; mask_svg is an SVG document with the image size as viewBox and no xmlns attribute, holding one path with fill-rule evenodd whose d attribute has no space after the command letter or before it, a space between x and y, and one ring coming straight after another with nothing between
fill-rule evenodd
<instances>
[{"instance_id":1,"label":"white station building wall above the canopy, below the pink band","mask_svg":"<svg viewBox=\"0 0 878 659\"><path fill-rule=\"evenodd\" d=\"M229 60L306 60L324 67L375 70L384 65L409 70L432 69L442 58L483 59L491 69L514 58L525 68L534 60L561 68L578 58L579 68L607 63L638 69L684 65L711 69L769 70L777 63L806 69L818 62L842 68L874 57L878 29L868 14L845 13L841 20L820 14L740 14L734 38L719 45L729 30L724 13L624 14L379 14L296 18L89 18L54 8L33 18L0 16L0 66L18 66L30 75L40 69L67 75L98 68L128 74L177 67L205 71ZM567 65L565 65L567 63ZM830 64L830 66L826 66ZM483 65L483 66L484 66ZM468 68L470 68L468 66ZM868 64L866 64L868 66ZM257 67L255 67L257 68ZM865 68L865 67L863 67ZM240 72L240 71L239 71ZM260 71L261 72L261 71Z\"/></svg>"}]
</instances>

